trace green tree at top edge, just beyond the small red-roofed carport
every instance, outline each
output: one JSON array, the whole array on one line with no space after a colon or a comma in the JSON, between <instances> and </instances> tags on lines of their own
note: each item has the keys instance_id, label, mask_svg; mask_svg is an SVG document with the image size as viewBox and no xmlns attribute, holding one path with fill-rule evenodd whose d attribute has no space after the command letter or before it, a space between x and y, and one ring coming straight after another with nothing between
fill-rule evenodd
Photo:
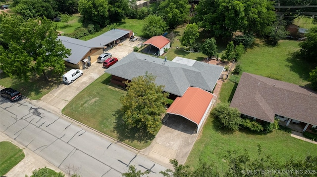
<instances>
[{"instance_id":1,"label":"green tree at top edge, just beyond the small red-roofed carport","mask_svg":"<svg viewBox=\"0 0 317 177\"><path fill-rule=\"evenodd\" d=\"M170 29L183 24L188 20L188 0L164 0L160 1L157 14L160 15Z\"/></svg>"}]
</instances>

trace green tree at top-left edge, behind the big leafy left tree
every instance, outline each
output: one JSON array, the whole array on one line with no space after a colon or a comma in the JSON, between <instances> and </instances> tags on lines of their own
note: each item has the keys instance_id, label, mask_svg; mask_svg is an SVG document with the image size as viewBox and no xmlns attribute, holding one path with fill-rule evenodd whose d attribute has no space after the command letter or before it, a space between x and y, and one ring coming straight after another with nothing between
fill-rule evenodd
<instances>
[{"instance_id":1,"label":"green tree at top-left edge, behind the big leafy left tree","mask_svg":"<svg viewBox=\"0 0 317 177\"><path fill-rule=\"evenodd\" d=\"M46 17L52 19L58 15L55 0L16 0L12 11L24 19Z\"/></svg>"}]
</instances>

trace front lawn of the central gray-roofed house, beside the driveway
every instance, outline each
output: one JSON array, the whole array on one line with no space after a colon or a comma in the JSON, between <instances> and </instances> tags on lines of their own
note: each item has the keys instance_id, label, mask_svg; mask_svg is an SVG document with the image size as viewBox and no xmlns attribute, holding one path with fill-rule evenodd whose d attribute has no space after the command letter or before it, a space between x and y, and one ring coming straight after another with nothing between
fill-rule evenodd
<instances>
[{"instance_id":1,"label":"front lawn of the central gray-roofed house, beside the driveway","mask_svg":"<svg viewBox=\"0 0 317 177\"><path fill-rule=\"evenodd\" d=\"M126 131L118 110L125 91L114 87L110 78L108 73L100 76L72 99L62 113L137 149L149 146L151 140L137 137L138 130Z\"/></svg>"}]
</instances>

